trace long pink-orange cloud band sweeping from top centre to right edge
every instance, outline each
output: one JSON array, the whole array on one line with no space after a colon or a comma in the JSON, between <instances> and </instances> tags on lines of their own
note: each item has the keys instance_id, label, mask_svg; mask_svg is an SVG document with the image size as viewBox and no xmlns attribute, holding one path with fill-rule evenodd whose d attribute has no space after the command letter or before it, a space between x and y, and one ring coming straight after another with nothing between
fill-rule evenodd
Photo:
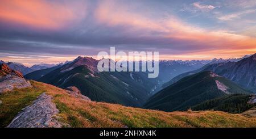
<instances>
[{"instance_id":1,"label":"long pink-orange cloud band sweeping from top centre to right edge","mask_svg":"<svg viewBox=\"0 0 256 139\"><path fill-rule=\"evenodd\" d=\"M139 12L133 12L136 10L133 10L131 9L131 7L126 7L125 5L120 5L119 3L115 2L116 1L108 1L108 3L100 3L95 12L95 16L98 22L106 24L108 26L131 27L133 28L133 31L141 31L142 35L145 34L144 32L148 31L160 32L159 34L162 35L161 37L165 39L179 40L179 42L181 42L180 47L183 47L183 45L191 45L191 47L195 48L197 46L200 47L199 51L201 54L199 58L207 58L205 55L214 55L218 57L218 53L221 50L224 50L223 52L225 52L227 56L231 56L230 54L235 53L255 53L255 37L238 35L234 33L229 33L228 31L205 30L200 27L191 26L190 24L187 24L172 15L162 20L151 19L147 18L147 14L145 15L144 13L139 14ZM182 42L184 43L182 44ZM189 42L191 42L191 44L189 44ZM170 44L170 50L173 45L175 44ZM212 51L216 49L217 51ZM205 53L202 55L202 52ZM190 56L192 58L195 58L195 55L199 53L193 54L194 55L191 54ZM222 53L222 56L223 54L224 53Z\"/></svg>"}]
</instances>

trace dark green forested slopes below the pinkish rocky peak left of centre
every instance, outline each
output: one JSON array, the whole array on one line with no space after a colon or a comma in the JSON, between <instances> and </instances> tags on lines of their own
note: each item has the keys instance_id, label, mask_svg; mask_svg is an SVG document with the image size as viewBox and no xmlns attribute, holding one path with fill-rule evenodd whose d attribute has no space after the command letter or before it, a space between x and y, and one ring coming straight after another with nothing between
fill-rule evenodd
<instances>
[{"instance_id":1,"label":"dark green forested slopes below the pinkish rocky peak left of centre","mask_svg":"<svg viewBox=\"0 0 256 139\"><path fill-rule=\"evenodd\" d=\"M93 73L87 66L61 72L61 68L44 75L38 81L61 88L76 86L82 94L98 102L118 103L125 106L142 106L151 91L152 83L142 83L147 74L135 74L134 81L129 72Z\"/></svg>"}]
</instances>

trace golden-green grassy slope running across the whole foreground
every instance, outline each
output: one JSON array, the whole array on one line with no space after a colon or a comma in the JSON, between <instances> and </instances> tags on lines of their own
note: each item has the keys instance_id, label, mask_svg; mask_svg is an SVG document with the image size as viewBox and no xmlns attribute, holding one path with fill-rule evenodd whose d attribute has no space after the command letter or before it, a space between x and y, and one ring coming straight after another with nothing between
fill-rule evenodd
<instances>
[{"instance_id":1,"label":"golden-green grassy slope running across the whole foreground","mask_svg":"<svg viewBox=\"0 0 256 139\"><path fill-rule=\"evenodd\" d=\"M44 91L53 96L53 102L60 110L58 120L71 127L256 127L256 118L240 114L220 111L163 112L86 102L55 86L35 81L31 83L34 87L30 89L15 90L0 96L3 100L0 105L2 127L9 124L22 107L30 104Z\"/></svg>"}]
</instances>

